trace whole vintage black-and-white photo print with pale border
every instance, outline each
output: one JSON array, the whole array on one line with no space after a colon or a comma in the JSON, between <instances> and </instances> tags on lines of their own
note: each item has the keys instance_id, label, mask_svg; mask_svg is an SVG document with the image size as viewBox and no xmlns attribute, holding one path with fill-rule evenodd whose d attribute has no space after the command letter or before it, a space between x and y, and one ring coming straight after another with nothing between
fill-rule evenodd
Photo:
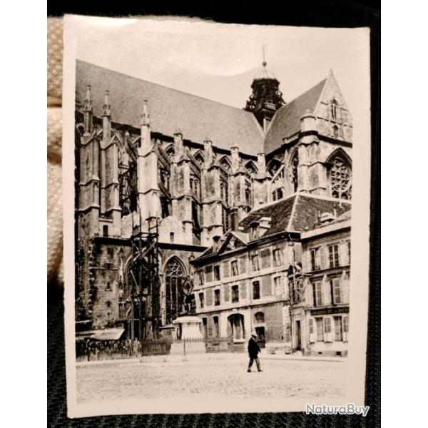
<instances>
[{"instance_id":1,"label":"whole vintage black-and-white photo print with pale border","mask_svg":"<svg viewBox=\"0 0 428 428\"><path fill-rule=\"evenodd\" d=\"M68 414L363 397L369 31L66 16L64 49Z\"/></svg>"}]
</instances>

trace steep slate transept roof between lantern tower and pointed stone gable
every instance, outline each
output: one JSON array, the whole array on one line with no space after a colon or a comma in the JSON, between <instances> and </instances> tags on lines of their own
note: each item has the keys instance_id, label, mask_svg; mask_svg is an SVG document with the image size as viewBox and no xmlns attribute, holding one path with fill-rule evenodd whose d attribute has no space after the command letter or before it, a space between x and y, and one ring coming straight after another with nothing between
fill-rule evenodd
<instances>
[{"instance_id":1,"label":"steep slate transept roof between lantern tower and pointed stone gable","mask_svg":"<svg viewBox=\"0 0 428 428\"><path fill-rule=\"evenodd\" d=\"M288 138L300 131L300 117L307 109L314 111L325 86L327 78L317 83L290 103L282 106L273 116L265 136L265 153L270 153L282 146L282 138Z\"/></svg>"}]
</instances>

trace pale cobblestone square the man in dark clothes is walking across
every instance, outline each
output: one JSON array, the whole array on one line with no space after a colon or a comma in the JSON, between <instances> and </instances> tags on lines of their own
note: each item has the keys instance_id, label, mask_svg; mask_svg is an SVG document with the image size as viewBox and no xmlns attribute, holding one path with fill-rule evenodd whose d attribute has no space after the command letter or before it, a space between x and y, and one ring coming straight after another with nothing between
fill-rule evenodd
<instances>
[{"instance_id":1,"label":"pale cobblestone square the man in dark clothes is walking across","mask_svg":"<svg viewBox=\"0 0 428 428\"><path fill-rule=\"evenodd\" d=\"M79 404L250 399L257 406L260 399L286 405L292 399L341 399L345 395L344 362L263 356L260 362L260 373L255 365L253 372L246 371L245 354L176 362L91 362L77 366L77 399Z\"/></svg>"}]
</instances>

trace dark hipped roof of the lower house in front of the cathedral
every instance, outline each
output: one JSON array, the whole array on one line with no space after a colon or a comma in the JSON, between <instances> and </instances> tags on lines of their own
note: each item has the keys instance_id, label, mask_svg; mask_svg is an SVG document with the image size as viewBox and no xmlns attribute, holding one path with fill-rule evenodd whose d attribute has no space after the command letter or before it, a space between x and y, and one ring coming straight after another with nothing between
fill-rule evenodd
<instances>
[{"instance_id":1,"label":"dark hipped roof of the lower house in front of the cathedral","mask_svg":"<svg viewBox=\"0 0 428 428\"><path fill-rule=\"evenodd\" d=\"M339 217L350 209L351 203L343 200L317 198L317 196L297 193L251 211L247 217L241 220L240 226L244 228L244 232L248 232L253 221L258 221L262 217L270 217L270 229L263 237L284 231L302 232L319 226L319 214L334 213L336 210L336 215Z\"/></svg>"}]
</instances>

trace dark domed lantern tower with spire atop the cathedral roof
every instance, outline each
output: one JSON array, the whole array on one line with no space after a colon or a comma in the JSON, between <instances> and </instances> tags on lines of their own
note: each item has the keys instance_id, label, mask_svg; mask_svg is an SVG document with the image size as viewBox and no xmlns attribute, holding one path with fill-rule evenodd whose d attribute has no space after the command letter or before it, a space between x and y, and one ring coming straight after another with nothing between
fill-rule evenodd
<instances>
[{"instance_id":1,"label":"dark domed lantern tower with spire atop the cathedral roof","mask_svg":"<svg viewBox=\"0 0 428 428\"><path fill-rule=\"evenodd\" d=\"M280 91L280 82L271 71L266 69L265 46L263 46L263 69L251 83L250 98L245 106L246 111L254 114L263 131L267 131L275 111L285 104Z\"/></svg>"}]
</instances>

